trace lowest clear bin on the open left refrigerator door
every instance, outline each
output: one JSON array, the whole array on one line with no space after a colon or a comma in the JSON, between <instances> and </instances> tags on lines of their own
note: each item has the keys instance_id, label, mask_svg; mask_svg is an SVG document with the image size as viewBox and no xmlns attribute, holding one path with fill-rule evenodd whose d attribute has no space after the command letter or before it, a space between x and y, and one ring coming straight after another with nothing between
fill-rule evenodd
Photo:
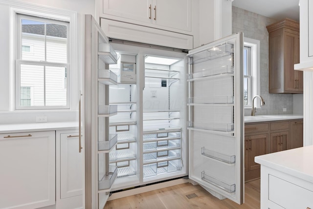
<instances>
[{"instance_id":1,"label":"lowest clear bin on the open left refrigerator door","mask_svg":"<svg viewBox=\"0 0 313 209\"><path fill-rule=\"evenodd\" d=\"M105 173L99 173L99 181L98 181L98 192L106 192L110 191L113 182L117 177L117 167L109 166L109 175L107 176ZM101 191L102 190L102 191Z\"/></svg>"}]
</instances>

